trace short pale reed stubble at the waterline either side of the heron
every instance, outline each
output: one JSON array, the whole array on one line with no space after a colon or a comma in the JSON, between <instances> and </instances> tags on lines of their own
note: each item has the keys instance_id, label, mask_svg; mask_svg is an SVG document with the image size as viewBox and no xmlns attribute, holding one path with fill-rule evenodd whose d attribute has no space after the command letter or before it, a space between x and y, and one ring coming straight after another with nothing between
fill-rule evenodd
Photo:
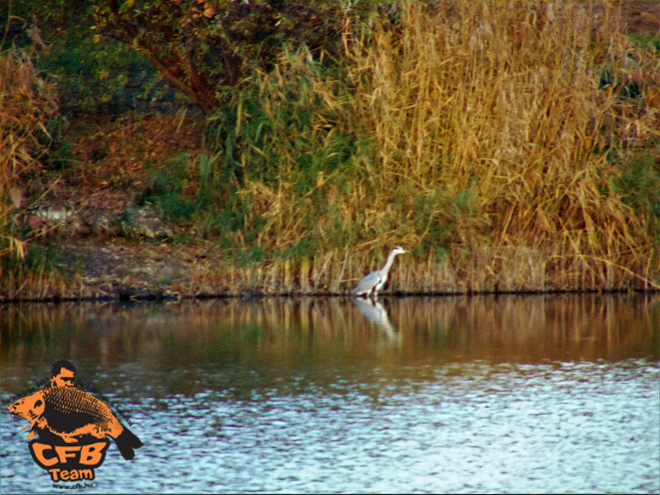
<instances>
[{"instance_id":1,"label":"short pale reed stubble at the waterline either side of the heron","mask_svg":"<svg viewBox=\"0 0 660 495\"><path fill-rule=\"evenodd\" d=\"M660 290L650 280L652 273L640 276L607 263L594 267L580 258L570 263L562 260L561 269L551 271L548 260L552 256L552 252L510 246L480 247L469 253L456 249L443 261L433 256L426 260L406 259L403 255L395 261L388 285L381 293ZM267 295L339 295L350 293L366 273L380 269L382 263L370 261L365 255L335 251L311 260L288 260L243 269L215 267L213 273L204 271L192 277L199 283L197 289L202 294L240 295L252 289Z\"/></svg>"}]
</instances>

